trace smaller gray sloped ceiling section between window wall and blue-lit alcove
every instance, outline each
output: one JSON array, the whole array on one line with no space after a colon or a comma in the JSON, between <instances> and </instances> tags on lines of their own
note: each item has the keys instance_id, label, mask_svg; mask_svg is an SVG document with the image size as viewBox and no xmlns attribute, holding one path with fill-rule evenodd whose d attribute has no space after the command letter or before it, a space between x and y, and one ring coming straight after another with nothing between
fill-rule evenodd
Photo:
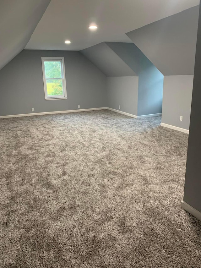
<instances>
[{"instance_id":1,"label":"smaller gray sloped ceiling section between window wall and blue-lit alcove","mask_svg":"<svg viewBox=\"0 0 201 268\"><path fill-rule=\"evenodd\" d=\"M106 76L137 76L104 42L80 52Z\"/></svg>"}]
</instances>

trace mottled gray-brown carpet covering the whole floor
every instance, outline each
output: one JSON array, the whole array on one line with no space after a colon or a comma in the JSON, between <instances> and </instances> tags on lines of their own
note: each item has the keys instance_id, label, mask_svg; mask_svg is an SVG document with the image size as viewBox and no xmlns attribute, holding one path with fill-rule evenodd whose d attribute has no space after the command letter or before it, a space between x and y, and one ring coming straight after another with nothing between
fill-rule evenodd
<instances>
[{"instance_id":1,"label":"mottled gray-brown carpet covering the whole floor","mask_svg":"<svg viewBox=\"0 0 201 268\"><path fill-rule=\"evenodd\" d=\"M108 110L0 120L0 267L201 267L188 135Z\"/></svg>"}]
</instances>

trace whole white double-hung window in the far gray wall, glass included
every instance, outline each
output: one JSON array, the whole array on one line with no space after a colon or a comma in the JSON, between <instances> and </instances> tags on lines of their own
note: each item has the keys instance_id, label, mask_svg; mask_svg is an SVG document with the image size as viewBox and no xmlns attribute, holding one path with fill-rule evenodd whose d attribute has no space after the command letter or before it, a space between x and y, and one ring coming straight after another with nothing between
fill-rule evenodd
<instances>
[{"instance_id":1,"label":"whole white double-hung window in the far gray wall, glass included","mask_svg":"<svg viewBox=\"0 0 201 268\"><path fill-rule=\"evenodd\" d=\"M67 99L63 57L41 57L46 100Z\"/></svg>"}]
</instances>

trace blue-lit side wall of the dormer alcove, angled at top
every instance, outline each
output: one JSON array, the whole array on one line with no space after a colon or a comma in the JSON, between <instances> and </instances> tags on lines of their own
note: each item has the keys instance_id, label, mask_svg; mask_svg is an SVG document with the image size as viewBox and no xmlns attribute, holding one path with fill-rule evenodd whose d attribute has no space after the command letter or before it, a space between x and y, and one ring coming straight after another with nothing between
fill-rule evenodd
<instances>
[{"instance_id":1,"label":"blue-lit side wall of the dormer alcove, angled at top","mask_svg":"<svg viewBox=\"0 0 201 268\"><path fill-rule=\"evenodd\" d=\"M132 43L106 42L106 44L139 75L138 114L162 112L163 75Z\"/></svg>"}]
</instances>

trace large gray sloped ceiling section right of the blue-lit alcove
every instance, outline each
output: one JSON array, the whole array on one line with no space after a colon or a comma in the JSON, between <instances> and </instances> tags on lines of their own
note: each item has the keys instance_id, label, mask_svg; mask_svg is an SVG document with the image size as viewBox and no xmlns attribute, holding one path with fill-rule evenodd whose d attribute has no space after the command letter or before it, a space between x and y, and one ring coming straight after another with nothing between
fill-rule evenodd
<instances>
[{"instance_id":1,"label":"large gray sloped ceiling section right of the blue-lit alcove","mask_svg":"<svg viewBox=\"0 0 201 268\"><path fill-rule=\"evenodd\" d=\"M194 73L199 6L161 19L127 36L163 75Z\"/></svg>"}]
</instances>

